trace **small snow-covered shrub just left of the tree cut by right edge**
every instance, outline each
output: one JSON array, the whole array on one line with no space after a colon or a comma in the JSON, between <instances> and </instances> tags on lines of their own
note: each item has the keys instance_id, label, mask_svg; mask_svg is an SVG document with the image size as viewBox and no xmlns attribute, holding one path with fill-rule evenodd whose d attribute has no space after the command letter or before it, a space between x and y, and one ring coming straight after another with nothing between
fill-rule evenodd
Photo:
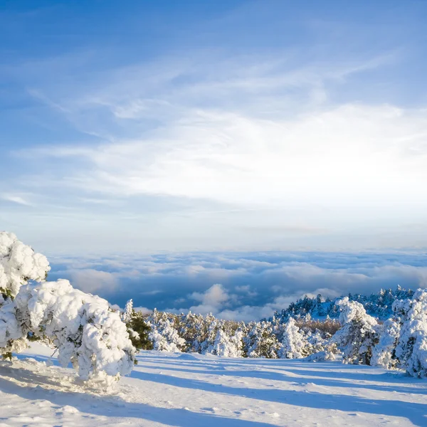
<instances>
[{"instance_id":1,"label":"small snow-covered shrub just left of the tree cut by right edge","mask_svg":"<svg viewBox=\"0 0 427 427\"><path fill-rule=\"evenodd\" d=\"M399 342L400 324L394 319L388 319L383 325L376 327L376 332L379 334L379 341L372 347L371 365L394 369L398 363L395 352Z\"/></svg>"}]
</instances>

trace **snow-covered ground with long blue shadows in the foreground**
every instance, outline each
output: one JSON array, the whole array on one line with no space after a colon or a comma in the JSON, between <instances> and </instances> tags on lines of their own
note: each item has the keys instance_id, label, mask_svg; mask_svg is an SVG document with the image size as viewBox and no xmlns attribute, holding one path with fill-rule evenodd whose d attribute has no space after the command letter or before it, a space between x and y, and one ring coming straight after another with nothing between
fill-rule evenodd
<instances>
[{"instance_id":1,"label":"snow-covered ground with long blue shadows in the foreground","mask_svg":"<svg viewBox=\"0 0 427 427\"><path fill-rule=\"evenodd\" d=\"M95 393L46 366L50 352L0 362L0 427L427 426L427 381L399 372L142 352L115 391Z\"/></svg>"}]
</instances>

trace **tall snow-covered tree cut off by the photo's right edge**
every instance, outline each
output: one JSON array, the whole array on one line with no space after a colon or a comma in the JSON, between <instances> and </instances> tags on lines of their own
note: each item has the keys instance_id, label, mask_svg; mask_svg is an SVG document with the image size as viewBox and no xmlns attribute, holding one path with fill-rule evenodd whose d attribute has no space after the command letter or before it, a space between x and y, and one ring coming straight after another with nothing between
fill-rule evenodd
<instances>
[{"instance_id":1,"label":"tall snow-covered tree cut off by the photo's right edge","mask_svg":"<svg viewBox=\"0 0 427 427\"><path fill-rule=\"evenodd\" d=\"M395 357L408 374L427 376L427 289L418 289L411 300L396 300L395 315L401 330Z\"/></svg>"}]
</instances>

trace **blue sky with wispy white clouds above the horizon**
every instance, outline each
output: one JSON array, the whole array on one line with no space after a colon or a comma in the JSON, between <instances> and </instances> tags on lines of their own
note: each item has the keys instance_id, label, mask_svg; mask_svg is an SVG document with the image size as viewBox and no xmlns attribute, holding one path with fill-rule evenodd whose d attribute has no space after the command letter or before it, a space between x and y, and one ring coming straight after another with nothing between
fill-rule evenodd
<instances>
[{"instance_id":1,"label":"blue sky with wispy white clouds above the horizon","mask_svg":"<svg viewBox=\"0 0 427 427\"><path fill-rule=\"evenodd\" d=\"M425 1L3 1L1 228L53 259L423 251L425 16ZM176 301L215 281L198 280Z\"/></svg>"}]
</instances>

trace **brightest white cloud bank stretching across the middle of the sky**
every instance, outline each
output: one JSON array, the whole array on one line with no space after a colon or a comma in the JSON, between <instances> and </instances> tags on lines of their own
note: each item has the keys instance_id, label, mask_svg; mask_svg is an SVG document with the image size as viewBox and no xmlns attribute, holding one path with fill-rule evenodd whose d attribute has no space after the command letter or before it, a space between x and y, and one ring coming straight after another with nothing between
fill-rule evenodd
<instances>
[{"instance_id":1,"label":"brightest white cloud bank stretching across the middle of the sky","mask_svg":"<svg viewBox=\"0 0 427 427\"><path fill-rule=\"evenodd\" d=\"M418 203L427 119L390 105L342 105L292 117L194 110L149 138L93 149L78 186L241 206ZM300 228L307 228L304 224Z\"/></svg>"}]
</instances>

